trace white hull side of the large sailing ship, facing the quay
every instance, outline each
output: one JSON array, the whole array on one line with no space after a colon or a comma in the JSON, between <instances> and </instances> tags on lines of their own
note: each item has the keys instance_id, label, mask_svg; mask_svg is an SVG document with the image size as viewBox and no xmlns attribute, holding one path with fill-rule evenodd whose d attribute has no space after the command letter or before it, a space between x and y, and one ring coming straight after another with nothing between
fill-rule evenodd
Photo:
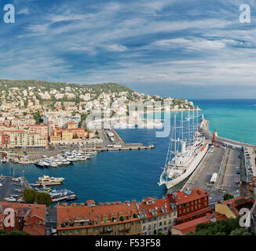
<instances>
[{"instance_id":1,"label":"white hull side of the large sailing ship, facing the quay","mask_svg":"<svg viewBox=\"0 0 256 251\"><path fill-rule=\"evenodd\" d=\"M206 144L206 147L203 149L203 151L200 151L196 158L193 159L185 173L183 173L181 176L178 176L176 179L170 180L165 183L167 189L170 189L172 187L175 187L177 184L180 184L181 181L188 178L188 176L190 176L196 170L196 167L199 165L199 163L202 161L203 157L207 153L208 145L209 144Z\"/></svg>"}]
</instances>

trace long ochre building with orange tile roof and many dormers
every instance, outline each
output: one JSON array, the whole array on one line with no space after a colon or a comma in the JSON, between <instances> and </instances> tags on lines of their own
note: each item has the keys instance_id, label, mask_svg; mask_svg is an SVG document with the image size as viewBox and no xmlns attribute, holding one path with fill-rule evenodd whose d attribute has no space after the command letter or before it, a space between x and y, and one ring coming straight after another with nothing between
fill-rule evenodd
<instances>
[{"instance_id":1,"label":"long ochre building with orange tile roof and many dormers","mask_svg":"<svg viewBox=\"0 0 256 251\"><path fill-rule=\"evenodd\" d=\"M57 205L58 235L141 235L135 202Z\"/></svg>"}]
</instances>

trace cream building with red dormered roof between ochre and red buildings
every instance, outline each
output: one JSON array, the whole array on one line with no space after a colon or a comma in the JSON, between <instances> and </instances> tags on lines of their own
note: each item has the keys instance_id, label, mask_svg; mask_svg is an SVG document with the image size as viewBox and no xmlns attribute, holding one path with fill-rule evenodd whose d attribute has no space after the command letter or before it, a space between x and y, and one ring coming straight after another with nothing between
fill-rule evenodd
<instances>
[{"instance_id":1,"label":"cream building with red dormered roof between ochre and red buildings","mask_svg":"<svg viewBox=\"0 0 256 251\"><path fill-rule=\"evenodd\" d=\"M142 235L166 235L171 227L176 224L177 208L175 203L170 203L170 198L154 199L144 198L137 202L137 209L141 217Z\"/></svg>"}]
</instances>

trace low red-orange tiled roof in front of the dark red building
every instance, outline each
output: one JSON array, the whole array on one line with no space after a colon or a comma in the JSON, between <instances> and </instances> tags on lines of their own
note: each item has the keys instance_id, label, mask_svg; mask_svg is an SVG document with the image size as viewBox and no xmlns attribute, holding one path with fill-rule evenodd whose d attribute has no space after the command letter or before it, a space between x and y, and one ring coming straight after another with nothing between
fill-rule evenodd
<instances>
[{"instance_id":1,"label":"low red-orange tiled roof in front of the dark red building","mask_svg":"<svg viewBox=\"0 0 256 251\"><path fill-rule=\"evenodd\" d=\"M189 220L185 223L178 224L178 225L174 226L173 228L178 231L181 231L181 233L183 235L186 235L189 232L195 232L196 226L198 224L209 223L210 221L214 221L214 220L226 220L226 219L227 219L227 217L224 214L220 214L220 213L216 213L216 212L207 213L207 216L203 216L203 217L200 217L195 220Z\"/></svg>"}]
</instances>

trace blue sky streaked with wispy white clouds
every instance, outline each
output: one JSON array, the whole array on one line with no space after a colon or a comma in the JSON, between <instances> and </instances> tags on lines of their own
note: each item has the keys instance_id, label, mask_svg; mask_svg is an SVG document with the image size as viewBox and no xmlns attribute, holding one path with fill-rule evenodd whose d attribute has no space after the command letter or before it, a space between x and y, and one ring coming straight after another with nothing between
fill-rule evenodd
<instances>
[{"instance_id":1,"label":"blue sky streaked with wispy white clouds","mask_svg":"<svg viewBox=\"0 0 256 251\"><path fill-rule=\"evenodd\" d=\"M244 3L250 24L240 23ZM14 24L3 21L5 4L15 6ZM5 0L0 78L256 98L255 27L254 0Z\"/></svg>"}]
</instances>

